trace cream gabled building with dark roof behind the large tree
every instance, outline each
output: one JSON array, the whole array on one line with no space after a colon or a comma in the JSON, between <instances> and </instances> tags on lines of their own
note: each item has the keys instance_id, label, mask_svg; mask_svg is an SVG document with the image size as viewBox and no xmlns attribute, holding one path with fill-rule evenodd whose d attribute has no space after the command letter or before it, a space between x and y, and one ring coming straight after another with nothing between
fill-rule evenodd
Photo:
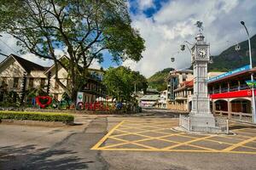
<instances>
[{"instance_id":1,"label":"cream gabled building with dark roof behind the large tree","mask_svg":"<svg viewBox=\"0 0 256 170\"><path fill-rule=\"evenodd\" d=\"M98 97L106 96L106 89L102 85L104 71L89 69L88 72L88 81L84 84L82 92L85 96L84 101L93 102ZM58 77L65 86L70 83L67 71L61 65L58 65ZM55 65L44 67L10 54L0 63L0 96L3 91L14 91L21 96L31 88L42 88L45 93L53 95L58 101L64 93L60 84L55 82Z\"/></svg>"}]
</instances>

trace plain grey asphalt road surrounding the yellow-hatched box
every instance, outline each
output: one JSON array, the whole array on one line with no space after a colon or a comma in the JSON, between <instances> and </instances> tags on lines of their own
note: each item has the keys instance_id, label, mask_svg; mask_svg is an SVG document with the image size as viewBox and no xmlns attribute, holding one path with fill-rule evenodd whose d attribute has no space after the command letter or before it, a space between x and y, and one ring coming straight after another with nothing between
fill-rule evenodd
<instances>
[{"instance_id":1,"label":"plain grey asphalt road surrounding the yellow-hatched box","mask_svg":"<svg viewBox=\"0 0 256 170\"><path fill-rule=\"evenodd\" d=\"M90 150L124 120L173 120L170 111L148 116L77 116L73 127L0 125L0 169L254 169L256 155L160 151ZM160 118L160 119L159 119Z\"/></svg>"}]
</instances>

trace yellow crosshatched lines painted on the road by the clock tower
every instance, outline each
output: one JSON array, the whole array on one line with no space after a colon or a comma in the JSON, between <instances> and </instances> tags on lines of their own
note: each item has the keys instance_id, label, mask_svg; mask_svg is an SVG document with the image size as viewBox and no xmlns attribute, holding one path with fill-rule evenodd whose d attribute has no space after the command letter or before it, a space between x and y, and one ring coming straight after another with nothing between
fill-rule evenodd
<instances>
[{"instance_id":1,"label":"yellow crosshatched lines painted on the road by the clock tower","mask_svg":"<svg viewBox=\"0 0 256 170\"><path fill-rule=\"evenodd\" d=\"M141 123L138 125L138 123ZM166 123L166 124L164 124ZM206 136L206 137L203 137L203 138L196 138L194 136L186 136L186 135L183 135L184 133L164 133L164 132L159 132L159 131L163 131L163 130L166 130L166 129L171 129L171 127L173 127L172 124L175 124L177 125L177 123L170 123L170 122L127 122L127 121L122 121L122 122L119 122L118 125L116 125L115 127L113 127L112 130L110 130L97 144L95 144L93 146L93 148L91 148L91 150L144 150L144 151L177 151L177 152L206 152L206 153L236 153L236 154L256 154L256 151L234 151L234 149L236 149L237 147L245 147L245 148L248 148L248 149L252 149L252 150L256 150L256 148L254 147L250 147L250 146L245 146L243 144L247 144L249 142L256 142L254 140L256 140L256 137L252 138L250 136L243 136L243 135L240 135L238 134L236 137L244 137L244 138L247 138L246 140L243 140L243 139L238 139L238 138L232 138L232 137L227 137L227 136L220 136L221 138L226 138L226 139L237 139L237 140L242 140L240 143L237 143L237 144L231 144L229 142L223 142L223 141L218 141L218 139L210 139L212 137L215 137L217 135L209 135L209 136ZM131 127L133 126L133 127ZM145 129L147 127L154 127L154 129ZM137 129L138 132L126 132L125 130L128 130L128 129ZM245 129L251 129L251 128L242 128L242 129L238 129L238 130L235 130L237 131L237 133L249 133L249 132L243 132L242 130L245 130ZM119 131L121 134L116 134L116 135L113 135L111 136L111 134L114 132L114 131ZM148 136L148 135L144 135L144 134L141 134L141 133L160 133L160 134L166 134L164 136L159 136L159 137L151 137L151 136ZM120 136L125 136L125 135L137 135L137 136L141 136L145 139L138 139L138 140L133 140L133 141L130 141L130 140L125 140L125 139L119 139L117 137L120 137ZM249 133L249 134L253 134L253 133ZM186 141L186 142L177 142L177 141L173 141L171 139L163 139L163 138L166 138L166 137L171 137L171 136L177 136L177 137L184 137L184 138L188 138L188 139L192 139L192 140L189 140L189 141ZM105 141L107 141L107 139L114 139L114 140L118 140L122 143L119 143L119 144L110 144L110 145L105 145L105 146L102 146L100 147ZM158 149L158 148L155 148L155 147L152 147L152 146L149 146L147 144L138 144L137 142L143 142L143 141L148 141L148 140L154 140L154 139L158 139L158 140L162 140L162 141L166 141L166 142L169 142L169 143L174 143L174 145L172 146L168 146L168 147L165 147L163 149ZM201 140L206 140L206 141L212 141L212 142L216 142L216 143L220 143L220 144L230 144L230 146L228 148L225 148L224 150L214 150L212 148L207 148L207 147L202 147L202 146L198 146L198 145L195 145L195 144L191 144L193 142L196 142L196 141L201 141ZM135 144L137 146L141 146L143 147L143 149L138 149L138 148L113 148L113 147L116 147L116 146L120 146L120 145L124 145L124 144ZM192 146L192 147L195 147L195 148L198 148L198 149L201 149L201 150L176 150L175 148L178 147L178 146L182 146L182 145L185 145L185 146Z\"/></svg>"}]
</instances>

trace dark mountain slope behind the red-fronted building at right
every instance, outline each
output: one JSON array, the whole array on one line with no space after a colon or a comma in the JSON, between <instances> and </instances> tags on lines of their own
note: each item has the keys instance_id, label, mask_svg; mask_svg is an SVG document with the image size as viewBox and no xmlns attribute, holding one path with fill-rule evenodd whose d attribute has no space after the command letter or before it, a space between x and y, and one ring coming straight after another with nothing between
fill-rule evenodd
<instances>
[{"instance_id":1,"label":"dark mountain slope behind the red-fronted building at right","mask_svg":"<svg viewBox=\"0 0 256 170\"><path fill-rule=\"evenodd\" d=\"M235 45L225 49L221 54L212 56L213 63L208 66L209 71L230 71L243 65L249 65L248 41L239 43L241 49L235 50ZM256 65L256 35L251 37L253 66Z\"/></svg>"}]
</instances>

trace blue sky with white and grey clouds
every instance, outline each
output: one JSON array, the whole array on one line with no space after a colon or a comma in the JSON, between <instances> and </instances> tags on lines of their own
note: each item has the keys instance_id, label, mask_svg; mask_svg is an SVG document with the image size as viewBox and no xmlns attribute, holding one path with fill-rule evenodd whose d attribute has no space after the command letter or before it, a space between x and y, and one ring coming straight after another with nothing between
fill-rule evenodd
<instances>
[{"instance_id":1,"label":"blue sky with white and grey clouds","mask_svg":"<svg viewBox=\"0 0 256 170\"><path fill-rule=\"evenodd\" d=\"M240 24L241 20L245 21L251 36L256 34L255 0L129 0L127 5L131 14L131 25L140 31L146 50L139 62L126 60L121 65L141 71L145 77L167 67L184 69L191 65L189 51L181 52L180 45L184 41L195 42L197 20L203 22L202 32L210 43L212 55L247 39L246 31ZM4 34L2 36L1 52L15 53L18 48L14 38ZM102 65L94 62L92 67L102 66L107 69L109 66L117 66L111 61L108 52L103 55L105 61ZM32 54L22 57L41 65L50 65L49 60L38 59ZM171 62L172 57L175 58L174 62Z\"/></svg>"}]
</instances>

